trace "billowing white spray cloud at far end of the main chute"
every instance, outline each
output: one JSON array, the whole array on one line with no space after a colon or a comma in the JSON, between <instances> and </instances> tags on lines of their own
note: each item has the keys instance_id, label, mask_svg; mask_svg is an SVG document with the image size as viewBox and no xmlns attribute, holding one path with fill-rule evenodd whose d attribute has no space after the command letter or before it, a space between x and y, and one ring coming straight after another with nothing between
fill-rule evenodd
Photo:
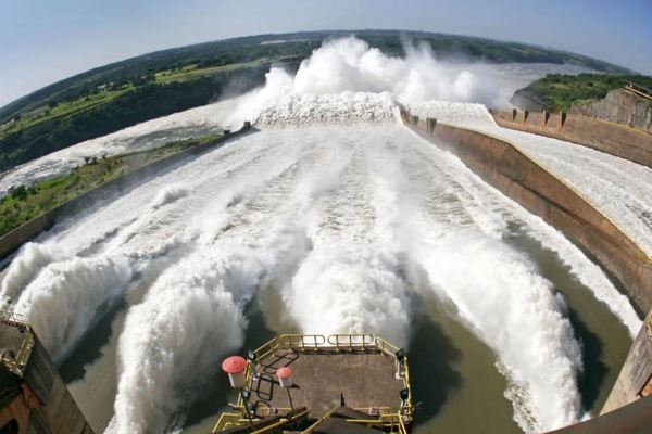
<instances>
[{"instance_id":1,"label":"billowing white spray cloud at far end of the main chute","mask_svg":"<svg viewBox=\"0 0 652 434\"><path fill-rule=\"evenodd\" d=\"M271 68L264 87L239 99L229 124L386 122L390 105L430 100L490 105L498 97L488 69L438 60L426 43L404 48L404 58L392 58L353 36L325 41L296 75Z\"/></svg>"}]
</instances>

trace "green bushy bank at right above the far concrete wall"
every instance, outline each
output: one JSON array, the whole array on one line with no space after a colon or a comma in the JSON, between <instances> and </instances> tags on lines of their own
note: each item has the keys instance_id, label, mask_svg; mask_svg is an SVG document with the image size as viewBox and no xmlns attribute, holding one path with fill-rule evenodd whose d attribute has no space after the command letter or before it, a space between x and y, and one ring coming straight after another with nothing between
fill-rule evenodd
<instances>
[{"instance_id":1,"label":"green bushy bank at right above the far concrete wall","mask_svg":"<svg viewBox=\"0 0 652 434\"><path fill-rule=\"evenodd\" d=\"M582 104L600 100L612 89L624 87L627 82L652 88L652 77L643 75L607 75L607 74L580 74L560 75L550 74L531 82L519 90L534 94L548 107L555 112L566 112L573 104Z\"/></svg>"}]
</instances>

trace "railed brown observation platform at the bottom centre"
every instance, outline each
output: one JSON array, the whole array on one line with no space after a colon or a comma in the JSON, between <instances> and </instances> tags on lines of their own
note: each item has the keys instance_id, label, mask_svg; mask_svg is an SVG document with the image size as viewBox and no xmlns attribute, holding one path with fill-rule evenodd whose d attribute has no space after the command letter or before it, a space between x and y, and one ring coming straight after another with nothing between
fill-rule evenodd
<instances>
[{"instance_id":1,"label":"railed brown observation platform at the bottom centre","mask_svg":"<svg viewBox=\"0 0 652 434\"><path fill-rule=\"evenodd\" d=\"M242 375L236 411L213 433L408 433L412 423L408 357L379 336L283 334L250 352Z\"/></svg>"}]
</instances>

